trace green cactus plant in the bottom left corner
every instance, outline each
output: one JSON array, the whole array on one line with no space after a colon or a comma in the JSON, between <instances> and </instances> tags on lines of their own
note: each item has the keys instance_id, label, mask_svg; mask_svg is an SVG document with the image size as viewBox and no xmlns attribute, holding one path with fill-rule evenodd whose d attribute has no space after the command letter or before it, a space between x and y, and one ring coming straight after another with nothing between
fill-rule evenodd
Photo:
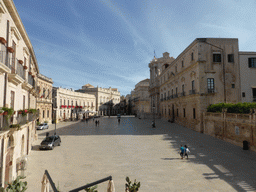
<instances>
[{"instance_id":1,"label":"green cactus plant in the bottom left corner","mask_svg":"<svg viewBox=\"0 0 256 192\"><path fill-rule=\"evenodd\" d=\"M6 187L0 188L1 192L24 192L27 190L27 182L20 181L20 179L24 179L25 177L18 176L12 183L9 183Z\"/></svg>"}]
</instances>

